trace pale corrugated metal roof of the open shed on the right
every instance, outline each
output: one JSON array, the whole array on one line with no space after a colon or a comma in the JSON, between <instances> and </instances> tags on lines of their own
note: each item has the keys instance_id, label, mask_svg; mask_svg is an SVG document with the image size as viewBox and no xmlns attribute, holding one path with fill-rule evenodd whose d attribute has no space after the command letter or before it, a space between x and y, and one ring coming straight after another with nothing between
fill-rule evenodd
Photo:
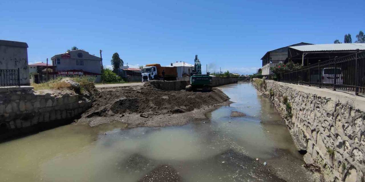
<instances>
[{"instance_id":1,"label":"pale corrugated metal roof of the open shed on the right","mask_svg":"<svg viewBox=\"0 0 365 182\"><path fill-rule=\"evenodd\" d=\"M313 51L350 51L365 50L365 43L343 43L343 44L314 44L305 46L291 46L289 48L303 52Z\"/></svg>"}]
</instances>

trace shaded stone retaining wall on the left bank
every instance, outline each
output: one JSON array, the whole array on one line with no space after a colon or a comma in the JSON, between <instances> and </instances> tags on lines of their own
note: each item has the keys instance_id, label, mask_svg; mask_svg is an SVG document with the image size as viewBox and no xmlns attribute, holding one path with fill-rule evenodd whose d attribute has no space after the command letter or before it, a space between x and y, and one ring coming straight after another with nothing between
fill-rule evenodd
<instances>
[{"instance_id":1,"label":"shaded stone retaining wall on the left bank","mask_svg":"<svg viewBox=\"0 0 365 182\"><path fill-rule=\"evenodd\" d=\"M42 122L72 119L92 106L91 100L69 91L43 93L33 87L0 88L0 125L8 130Z\"/></svg>"}]
</instances>

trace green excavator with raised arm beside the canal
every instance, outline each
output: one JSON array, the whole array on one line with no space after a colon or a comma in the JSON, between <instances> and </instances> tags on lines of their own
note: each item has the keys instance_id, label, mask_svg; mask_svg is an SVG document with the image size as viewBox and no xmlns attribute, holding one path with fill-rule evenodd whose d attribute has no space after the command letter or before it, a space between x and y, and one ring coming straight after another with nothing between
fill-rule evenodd
<instances>
[{"instance_id":1,"label":"green excavator with raised arm beside the canal","mask_svg":"<svg viewBox=\"0 0 365 182\"><path fill-rule=\"evenodd\" d=\"M201 63L198 59L198 55L195 55L194 68L190 73L190 85L185 87L186 91L197 91L200 89L203 92L209 92L212 90L212 77L210 73L201 74Z\"/></svg>"}]
</instances>

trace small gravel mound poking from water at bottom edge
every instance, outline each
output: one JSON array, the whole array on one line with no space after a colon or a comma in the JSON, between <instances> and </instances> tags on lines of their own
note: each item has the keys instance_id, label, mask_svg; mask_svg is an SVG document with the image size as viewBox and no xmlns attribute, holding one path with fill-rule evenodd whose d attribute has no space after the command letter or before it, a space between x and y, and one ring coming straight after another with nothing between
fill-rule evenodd
<instances>
[{"instance_id":1,"label":"small gravel mound poking from water at bottom edge","mask_svg":"<svg viewBox=\"0 0 365 182\"><path fill-rule=\"evenodd\" d=\"M139 182L179 182L181 181L180 175L172 169L170 166L161 165L150 173L145 175L145 177L138 180Z\"/></svg>"}]
</instances>

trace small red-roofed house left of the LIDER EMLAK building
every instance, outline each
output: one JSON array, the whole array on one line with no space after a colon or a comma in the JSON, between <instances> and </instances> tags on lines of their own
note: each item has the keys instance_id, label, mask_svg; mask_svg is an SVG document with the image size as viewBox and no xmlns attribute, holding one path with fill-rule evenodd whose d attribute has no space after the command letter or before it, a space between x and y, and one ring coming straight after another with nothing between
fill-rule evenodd
<instances>
[{"instance_id":1,"label":"small red-roofed house left of the LIDER EMLAK building","mask_svg":"<svg viewBox=\"0 0 365 182\"><path fill-rule=\"evenodd\" d=\"M29 79L30 83L42 83L46 82L46 68L47 63L35 63L35 64L29 64ZM52 64L48 64L48 72L55 71L55 67L52 66ZM48 79L53 78L53 76L49 75Z\"/></svg>"}]
</instances>

